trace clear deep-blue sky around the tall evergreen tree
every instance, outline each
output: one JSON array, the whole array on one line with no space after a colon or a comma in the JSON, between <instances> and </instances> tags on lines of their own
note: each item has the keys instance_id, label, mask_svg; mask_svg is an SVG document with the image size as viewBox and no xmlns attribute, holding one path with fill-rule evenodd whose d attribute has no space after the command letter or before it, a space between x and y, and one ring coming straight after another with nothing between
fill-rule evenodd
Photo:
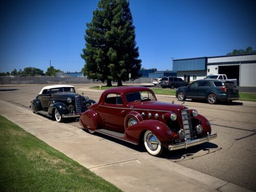
<instances>
[{"instance_id":1,"label":"clear deep-blue sky around the tall evergreen tree","mask_svg":"<svg viewBox=\"0 0 256 192\"><path fill-rule=\"evenodd\" d=\"M79 72L86 23L96 0L0 3L0 71L52 66ZM255 1L130 0L142 67L170 70L172 59L256 49Z\"/></svg>"}]
</instances>

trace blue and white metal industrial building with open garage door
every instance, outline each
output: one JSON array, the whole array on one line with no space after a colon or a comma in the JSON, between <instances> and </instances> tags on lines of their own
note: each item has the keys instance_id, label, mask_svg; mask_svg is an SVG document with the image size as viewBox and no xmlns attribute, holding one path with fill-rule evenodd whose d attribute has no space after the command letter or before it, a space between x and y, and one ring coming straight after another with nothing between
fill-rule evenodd
<instances>
[{"instance_id":1,"label":"blue and white metal industrial building with open garage door","mask_svg":"<svg viewBox=\"0 0 256 192\"><path fill-rule=\"evenodd\" d=\"M241 87L256 87L256 54L224 55L173 60L177 77L187 82L210 74L226 74Z\"/></svg>"}]
</instances>

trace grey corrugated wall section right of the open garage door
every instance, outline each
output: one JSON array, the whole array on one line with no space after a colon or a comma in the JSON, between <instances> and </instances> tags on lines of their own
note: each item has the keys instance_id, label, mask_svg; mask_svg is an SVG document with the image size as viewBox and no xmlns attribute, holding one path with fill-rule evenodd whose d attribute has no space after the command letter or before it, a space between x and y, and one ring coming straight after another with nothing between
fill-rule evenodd
<instances>
[{"instance_id":1,"label":"grey corrugated wall section right of the open garage door","mask_svg":"<svg viewBox=\"0 0 256 192\"><path fill-rule=\"evenodd\" d=\"M256 63L241 64L240 86L256 87Z\"/></svg>"}]
</instances>

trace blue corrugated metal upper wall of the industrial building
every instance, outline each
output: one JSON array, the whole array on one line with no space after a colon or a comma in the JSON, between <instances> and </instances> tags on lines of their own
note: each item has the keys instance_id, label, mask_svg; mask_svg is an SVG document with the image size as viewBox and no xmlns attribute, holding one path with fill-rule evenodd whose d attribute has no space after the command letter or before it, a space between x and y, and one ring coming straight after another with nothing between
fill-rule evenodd
<instances>
[{"instance_id":1,"label":"blue corrugated metal upper wall of the industrial building","mask_svg":"<svg viewBox=\"0 0 256 192\"><path fill-rule=\"evenodd\" d=\"M205 70L206 69L205 60L206 60L206 58L174 60L173 61L173 70L174 71Z\"/></svg>"}]
</instances>

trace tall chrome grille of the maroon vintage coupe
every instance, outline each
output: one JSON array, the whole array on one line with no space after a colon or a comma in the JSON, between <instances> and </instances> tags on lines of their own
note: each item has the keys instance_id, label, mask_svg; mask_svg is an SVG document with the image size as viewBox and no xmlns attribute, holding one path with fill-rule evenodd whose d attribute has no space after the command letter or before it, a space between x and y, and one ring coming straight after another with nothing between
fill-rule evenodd
<instances>
[{"instance_id":1,"label":"tall chrome grille of the maroon vintage coupe","mask_svg":"<svg viewBox=\"0 0 256 192\"><path fill-rule=\"evenodd\" d=\"M188 109L182 110L181 117L182 117L183 129L186 134L186 139L191 140L191 139L193 139L193 129L192 129L192 123L191 123L191 117L189 114L189 110Z\"/></svg>"}]
</instances>

